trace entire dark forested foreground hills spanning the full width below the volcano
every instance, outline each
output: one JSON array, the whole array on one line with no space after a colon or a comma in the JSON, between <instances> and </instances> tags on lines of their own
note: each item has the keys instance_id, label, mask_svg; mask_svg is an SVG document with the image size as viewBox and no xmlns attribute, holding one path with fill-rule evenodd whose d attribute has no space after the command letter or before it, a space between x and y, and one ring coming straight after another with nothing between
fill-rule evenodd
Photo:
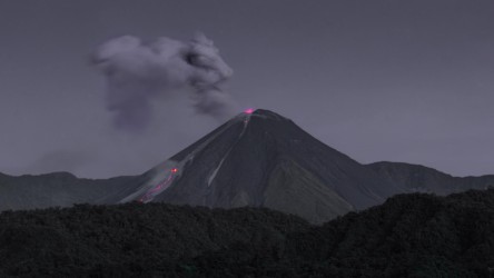
<instances>
[{"instance_id":1,"label":"entire dark forested foreground hills spanning the full width below the volcano","mask_svg":"<svg viewBox=\"0 0 494 278\"><path fill-rule=\"evenodd\" d=\"M494 190L399 195L323 226L268 209L0 215L0 277L494 277Z\"/></svg>"}]
</instances>

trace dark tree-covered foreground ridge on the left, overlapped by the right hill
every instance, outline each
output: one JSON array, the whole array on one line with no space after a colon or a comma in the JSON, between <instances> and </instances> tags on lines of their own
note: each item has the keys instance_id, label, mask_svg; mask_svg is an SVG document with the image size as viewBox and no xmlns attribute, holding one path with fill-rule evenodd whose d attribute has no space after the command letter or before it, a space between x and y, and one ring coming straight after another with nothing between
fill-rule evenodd
<instances>
[{"instance_id":1,"label":"dark tree-covered foreground ridge on the left, overlapped by the right hill","mask_svg":"<svg viewBox=\"0 0 494 278\"><path fill-rule=\"evenodd\" d=\"M77 205L0 215L0 277L152 277L234 242L284 240L308 224L267 209Z\"/></svg>"}]
</instances>

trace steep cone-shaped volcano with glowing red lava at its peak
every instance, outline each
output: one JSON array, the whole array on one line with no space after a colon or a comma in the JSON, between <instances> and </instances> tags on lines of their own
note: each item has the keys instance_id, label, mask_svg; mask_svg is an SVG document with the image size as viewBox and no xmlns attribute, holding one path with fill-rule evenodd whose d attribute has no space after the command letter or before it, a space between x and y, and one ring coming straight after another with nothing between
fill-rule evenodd
<instances>
[{"instance_id":1,"label":"steep cone-shaped volcano with glowing red lava at its peak","mask_svg":"<svg viewBox=\"0 0 494 278\"><path fill-rule=\"evenodd\" d=\"M268 110L238 115L106 203L267 207L324 222L406 192Z\"/></svg>"}]
</instances>

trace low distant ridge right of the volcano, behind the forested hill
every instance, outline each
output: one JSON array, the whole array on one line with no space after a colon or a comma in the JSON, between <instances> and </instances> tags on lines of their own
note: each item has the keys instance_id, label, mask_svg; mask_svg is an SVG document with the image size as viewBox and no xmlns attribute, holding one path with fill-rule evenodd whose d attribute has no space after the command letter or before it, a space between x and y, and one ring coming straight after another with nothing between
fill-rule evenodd
<instances>
[{"instance_id":1,"label":"low distant ridge right of the volcano, behind the forested hill","mask_svg":"<svg viewBox=\"0 0 494 278\"><path fill-rule=\"evenodd\" d=\"M419 165L384 161L370 163L366 167L373 169L389 182L411 191L448 195L468 189L494 187L494 175L460 178Z\"/></svg>"}]
</instances>

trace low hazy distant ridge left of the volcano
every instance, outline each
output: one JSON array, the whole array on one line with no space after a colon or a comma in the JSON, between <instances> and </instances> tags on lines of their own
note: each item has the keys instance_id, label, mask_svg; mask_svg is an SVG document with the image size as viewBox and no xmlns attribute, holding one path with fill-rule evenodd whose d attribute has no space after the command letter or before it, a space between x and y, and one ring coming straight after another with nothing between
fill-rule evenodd
<instances>
[{"instance_id":1,"label":"low hazy distant ridge left of the volcano","mask_svg":"<svg viewBox=\"0 0 494 278\"><path fill-rule=\"evenodd\" d=\"M0 173L0 211L95 203L113 195L132 179L79 179L68 172L19 177Z\"/></svg>"}]
</instances>

